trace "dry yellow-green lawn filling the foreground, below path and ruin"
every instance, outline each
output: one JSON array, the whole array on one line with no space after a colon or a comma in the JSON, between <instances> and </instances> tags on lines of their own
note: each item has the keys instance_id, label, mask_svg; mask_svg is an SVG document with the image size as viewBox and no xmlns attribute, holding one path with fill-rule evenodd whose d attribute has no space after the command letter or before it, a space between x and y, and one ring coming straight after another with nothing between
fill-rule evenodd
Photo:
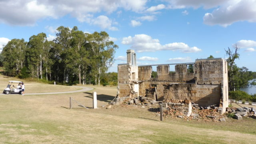
<instances>
[{"instance_id":1,"label":"dry yellow-green lawn filling the foreground, below path and ruin","mask_svg":"<svg viewBox=\"0 0 256 144\"><path fill-rule=\"evenodd\" d=\"M252 118L204 122L167 117L160 122L155 112L148 111L149 107L102 108L114 98L116 87L88 87L94 90L74 94L1 95L0 143L256 143L256 120ZM98 109L92 109L94 91L98 94ZM72 103L73 109L68 109L69 97L89 109L76 102Z\"/></svg>"}]
</instances>

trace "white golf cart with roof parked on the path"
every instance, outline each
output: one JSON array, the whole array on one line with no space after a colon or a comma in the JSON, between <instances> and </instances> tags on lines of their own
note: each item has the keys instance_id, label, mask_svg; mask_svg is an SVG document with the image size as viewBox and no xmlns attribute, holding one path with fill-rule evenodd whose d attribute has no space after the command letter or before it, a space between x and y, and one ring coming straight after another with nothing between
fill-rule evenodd
<instances>
[{"instance_id":1,"label":"white golf cart with roof parked on the path","mask_svg":"<svg viewBox=\"0 0 256 144\"><path fill-rule=\"evenodd\" d=\"M16 86L14 86L14 84ZM16 84L18 83L18 84ZM13 81L13 80L10 80L7 87L4 89L4 94L22 94L22 90L21 90L21 84L22 82L20 81Z\"/></svg>"}]
</instances>

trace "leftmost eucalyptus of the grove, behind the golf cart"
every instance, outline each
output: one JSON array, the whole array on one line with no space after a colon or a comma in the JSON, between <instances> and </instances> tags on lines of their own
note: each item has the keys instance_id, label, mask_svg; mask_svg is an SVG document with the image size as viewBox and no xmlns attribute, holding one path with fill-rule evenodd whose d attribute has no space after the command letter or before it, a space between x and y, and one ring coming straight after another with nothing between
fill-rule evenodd
<instances>
[{"instance_id":1,"label":"leftmost eucalyptus of the grove, behind the golf cart","mask_svg":"<svg viewBox=\"0 0 256 144\"><path fill-rule=\"evenodd\" d=\"M16 76L24 66L26 42L12 39L2 50L4 71L7 76Z\"/></svg>"}]
</instances>

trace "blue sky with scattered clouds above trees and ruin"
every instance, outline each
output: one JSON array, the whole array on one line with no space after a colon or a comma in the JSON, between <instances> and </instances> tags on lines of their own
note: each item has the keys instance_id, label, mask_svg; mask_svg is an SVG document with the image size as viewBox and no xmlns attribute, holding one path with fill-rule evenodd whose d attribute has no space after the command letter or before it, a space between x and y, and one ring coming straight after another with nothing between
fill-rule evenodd
<instances>
[{"instance_id":1,"label":"blue sky with scattered clouds above trees and ruin","mask_svg":"<svg viewBox=\"0 0 256 144\"><path fill-rule=\"evenodd\" d=\"M138 65L227 58L239 47L239 67L256 71L256 0L0 0L0 51L8 41L77 26L85 33L106 31L119 46L110 72Z\"/></svg>"}]
</instances>

